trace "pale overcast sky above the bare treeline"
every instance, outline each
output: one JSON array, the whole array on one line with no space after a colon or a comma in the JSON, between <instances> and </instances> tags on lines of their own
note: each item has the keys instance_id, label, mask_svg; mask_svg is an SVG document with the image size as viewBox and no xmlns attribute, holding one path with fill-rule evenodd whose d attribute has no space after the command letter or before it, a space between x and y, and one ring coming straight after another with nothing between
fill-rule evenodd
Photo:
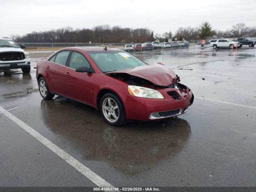
<instances>
[{"instance_id":1,"label":"pale overcast sky above the bare treeline","mask_svg":"<svg viewBox=\"0 0 256 192\"><path fill-rule=\"evenodd\" d=\"M0 0L0 37L100 24L175 33L203 21L217 30L256 26L256 0Z\"/></svg>"}]
</instances>

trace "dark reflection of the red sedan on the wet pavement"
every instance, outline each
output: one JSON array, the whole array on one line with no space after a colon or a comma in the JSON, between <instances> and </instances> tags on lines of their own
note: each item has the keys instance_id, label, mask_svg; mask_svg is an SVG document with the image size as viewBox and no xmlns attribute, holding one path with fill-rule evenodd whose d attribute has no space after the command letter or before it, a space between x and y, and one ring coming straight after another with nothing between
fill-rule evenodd
<instances>
[{"instance_id":1,"label":"dark reflection of the red sedan on the wet pavement","mask_svg":"<svg viewBox=\"0 0 256 192\"><path fill-rule=\"evenodd\" d=\"M108 162L128 175L140 174L177 154L191 132L188 122L180 118L103 128L99 121L88 120L91 116L100 119L96 110L80 108L80 113L72 114L77 108L80 108L77 104L60 96L50 101L42 100L42 120L52 132L72 141L84 159ZM56 115L63 120L55 121Z\"/></svg>"}]
</instances>

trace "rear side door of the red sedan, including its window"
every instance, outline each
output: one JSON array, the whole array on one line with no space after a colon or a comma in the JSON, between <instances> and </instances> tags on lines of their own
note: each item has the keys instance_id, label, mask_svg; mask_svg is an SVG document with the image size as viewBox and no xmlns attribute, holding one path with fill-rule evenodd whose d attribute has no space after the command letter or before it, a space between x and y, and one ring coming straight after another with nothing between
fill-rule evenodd
<instances>
[{"instance_id":1,"label":"rear side door of the red sedan, including its window","mask_svg":"<svg viewBox=\"0 0 256 192\"><path fill-rule=\"evenodd\" d=\"M52 91L56 94L65 94L64 70L70 51L61 51L55 54L46 65L46 77Z\"/></svg>"}]
</instances>

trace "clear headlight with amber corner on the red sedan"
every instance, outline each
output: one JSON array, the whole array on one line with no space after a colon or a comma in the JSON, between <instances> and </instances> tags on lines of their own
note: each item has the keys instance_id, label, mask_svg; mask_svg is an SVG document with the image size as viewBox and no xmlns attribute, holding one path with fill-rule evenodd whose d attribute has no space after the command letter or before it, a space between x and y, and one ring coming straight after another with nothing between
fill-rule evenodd
<instances>
[{"instance_id":1,"label":"clear headlight with amber corner on the red sedan","mask_svg":"<svg viewBox=\"0 0 256 192\"><path fill-rule=\"evenodd\" d=\"M128 86L128 92L130 95L142 98L152 98L152 99L164 99L164 96L160 92L154 89L149 89L140 86Z\"/></svg>"}]
</instances>

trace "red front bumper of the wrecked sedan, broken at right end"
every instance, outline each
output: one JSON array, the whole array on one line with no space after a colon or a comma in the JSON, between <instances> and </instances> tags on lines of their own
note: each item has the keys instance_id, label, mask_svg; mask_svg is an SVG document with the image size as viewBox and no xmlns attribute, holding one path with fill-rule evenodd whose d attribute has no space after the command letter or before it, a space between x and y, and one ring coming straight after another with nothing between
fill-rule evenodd
<instances>
[{"instance_id":1,"label":"red front bumper of the wrecked sedan, broken at right end","mask_svg":"<svg viewBox=\"0 0 256 192\"><path fill-rule=\"evenodd\" d=\"M178 116L186 112L192 105L194 96L187 89L186 96L180 95L180 100L174 100L167 92L177 91L176 88L158 90L164 99L149 99L122 94L126 118L130 120L149 121Z\"/></svg>"}]
</instances>

